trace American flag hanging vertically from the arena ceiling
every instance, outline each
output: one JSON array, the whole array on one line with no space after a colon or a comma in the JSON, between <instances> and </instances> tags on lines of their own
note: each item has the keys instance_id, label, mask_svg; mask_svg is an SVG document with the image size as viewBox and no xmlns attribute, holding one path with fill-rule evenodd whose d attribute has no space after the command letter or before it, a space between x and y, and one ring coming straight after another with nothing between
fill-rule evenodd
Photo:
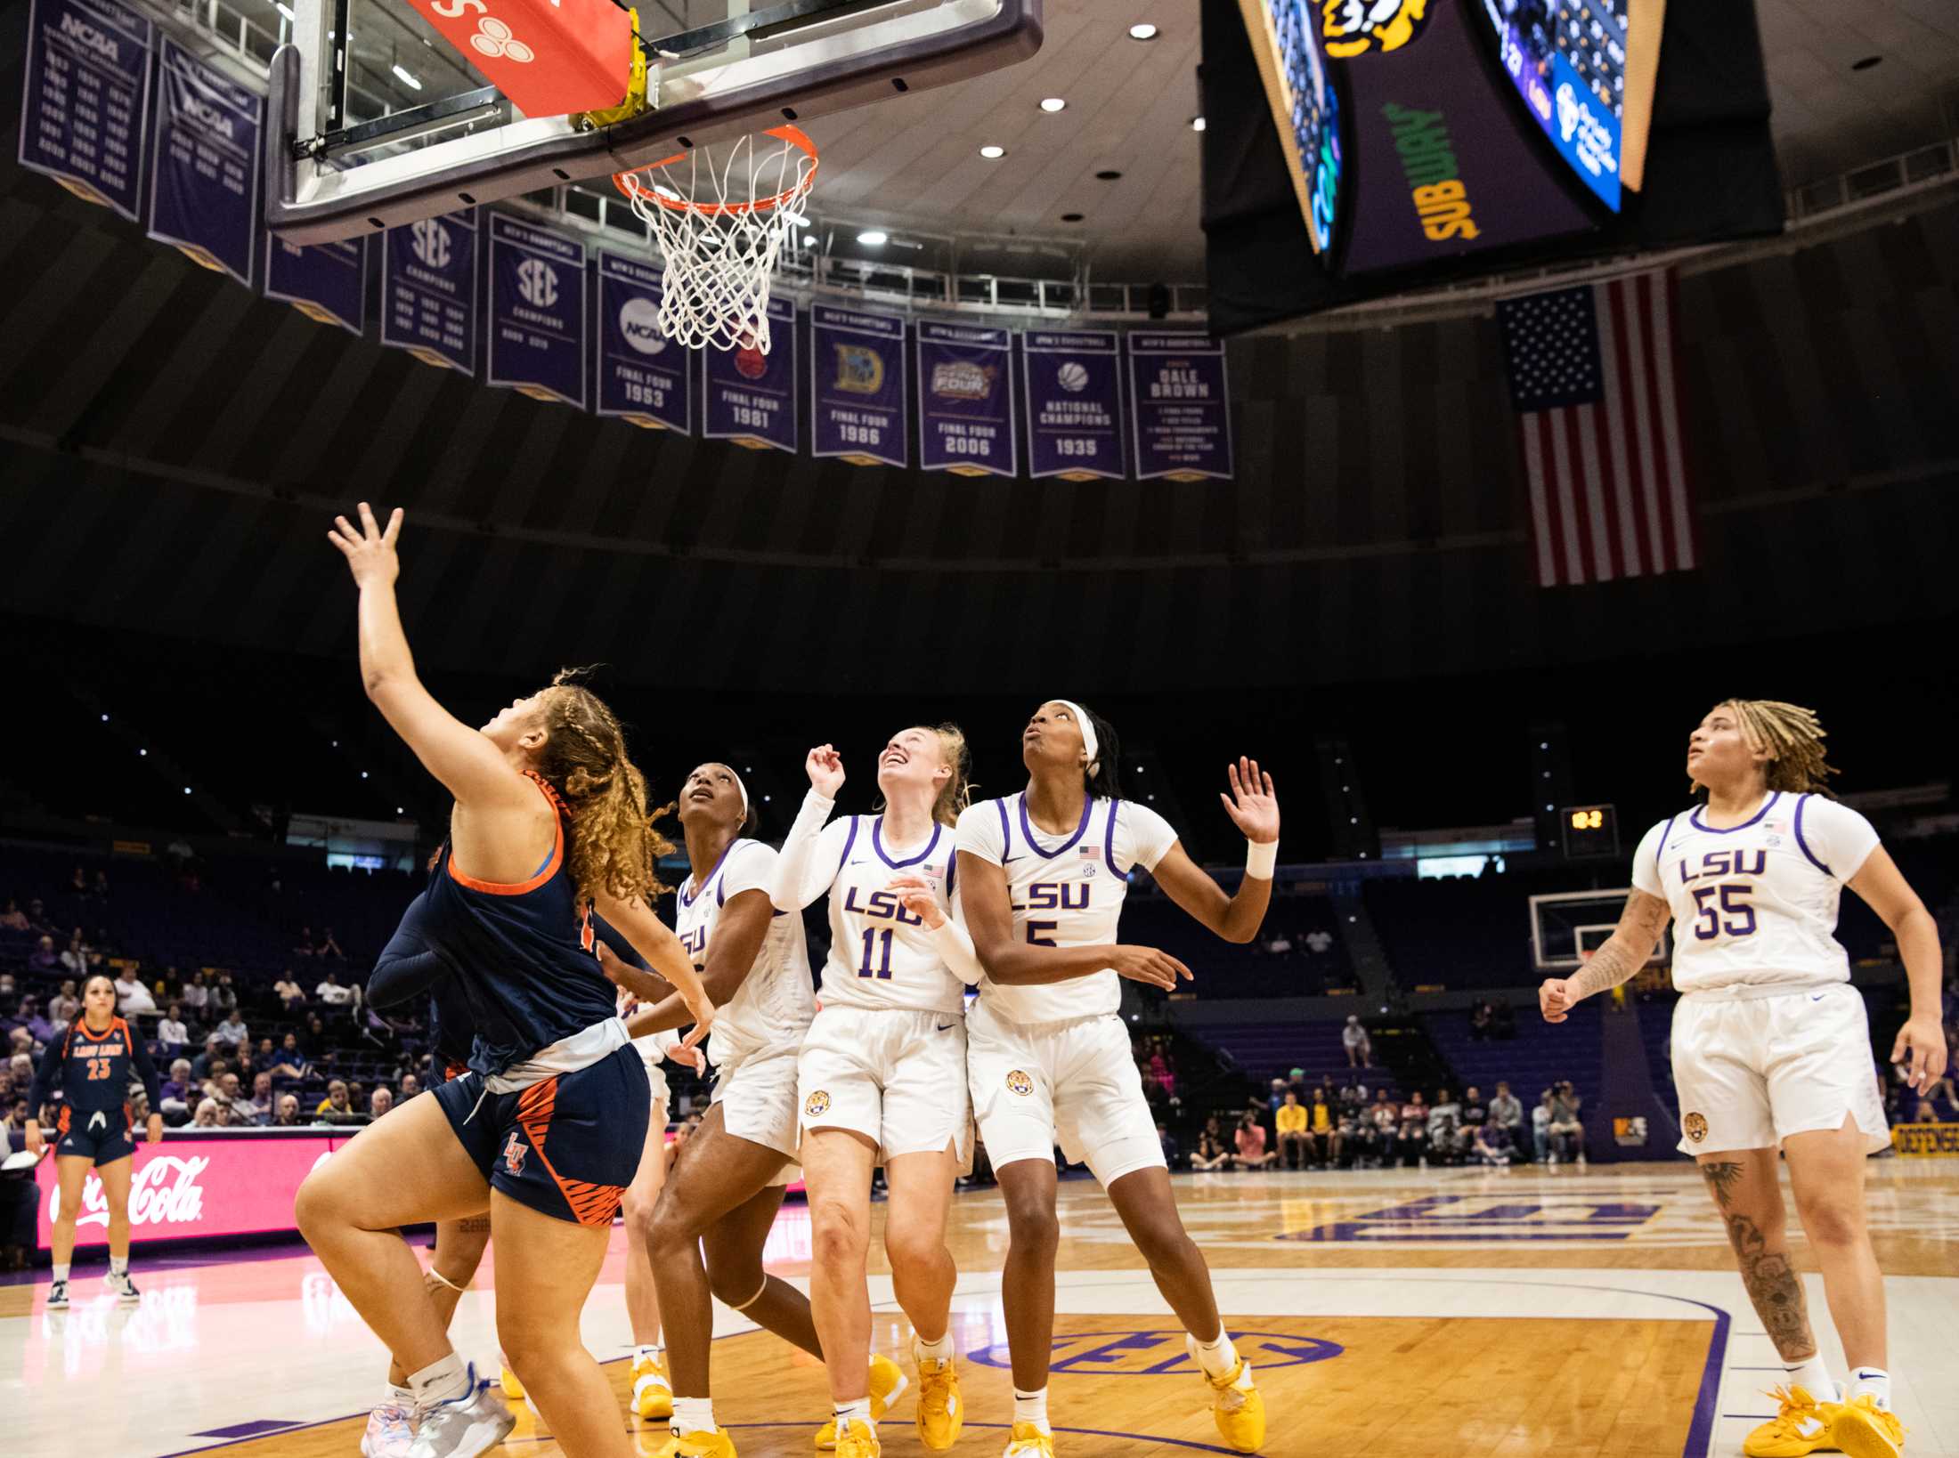
<instances>
[{"instance_id":1,"label":"American flag hanging vertically from the arena ceiling","mask_svg":"<svg viewBox=\"0 0 1959 1458\"><path fill-rule=\"evenodd\" d=\"M1673 313L1657 272L1497 305L1540 587L1696 566Z\"/></svg>"}]
</instances>

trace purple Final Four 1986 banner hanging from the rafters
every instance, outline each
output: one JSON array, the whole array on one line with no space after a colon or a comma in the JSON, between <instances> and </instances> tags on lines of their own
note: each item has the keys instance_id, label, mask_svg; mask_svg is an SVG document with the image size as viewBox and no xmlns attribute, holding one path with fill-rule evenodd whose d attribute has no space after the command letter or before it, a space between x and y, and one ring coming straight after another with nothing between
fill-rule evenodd
<instances>
[{"instance_id":1,"label":"purple Final Four 1986 banner hanging from the rafters","mask_svg":"<svg viewBox=\"0 0 1959 1458\"><path fill-rule=\"evenodd\" d=\"M909 466L905 321L889 313L809 309L809 454L852 466Z\"/></svg>"}]
</instances>

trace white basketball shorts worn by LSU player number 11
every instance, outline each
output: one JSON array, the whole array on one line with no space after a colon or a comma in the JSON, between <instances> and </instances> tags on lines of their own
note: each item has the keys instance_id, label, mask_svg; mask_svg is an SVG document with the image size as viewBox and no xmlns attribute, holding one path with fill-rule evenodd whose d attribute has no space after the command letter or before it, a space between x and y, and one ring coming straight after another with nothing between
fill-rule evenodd
<instances>
[{"instance_id":1,"label":"white basketball shorts worn by LSU player number 11","mask_svg":"<svg viewBox=\"0 0 1959 1458\"><path fill-rule=\"evenodd\" d=\"M966 1018L909 1008L817 1014L795 1069L803 1129L850 1129L880 1159L972 1151Z\"/></svg>"}]
</instances>

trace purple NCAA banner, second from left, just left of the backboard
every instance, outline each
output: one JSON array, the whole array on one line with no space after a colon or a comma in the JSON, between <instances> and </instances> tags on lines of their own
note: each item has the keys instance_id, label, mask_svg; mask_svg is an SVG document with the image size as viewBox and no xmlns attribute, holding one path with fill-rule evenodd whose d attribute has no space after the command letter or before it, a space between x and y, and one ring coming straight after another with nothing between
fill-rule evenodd
<instances>
[{"instance_id":1,"label":"purple NCAA banner, second from left, just left of the backboard","mask_svg":"<svg viewBox=\"0 0 1959 1458\"><path fill-rule=\"evenodd\" d=\"M259 245L263 115L264 100L257 92L163 37L149 235L247 288Z\"/></svg>"}]
</instances>

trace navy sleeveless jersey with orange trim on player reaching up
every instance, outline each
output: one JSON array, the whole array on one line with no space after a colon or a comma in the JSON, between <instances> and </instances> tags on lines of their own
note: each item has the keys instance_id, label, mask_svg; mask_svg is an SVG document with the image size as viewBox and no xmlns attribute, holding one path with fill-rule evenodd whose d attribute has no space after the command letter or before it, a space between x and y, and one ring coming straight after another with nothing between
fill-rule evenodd
<instances>
[{"instance_id":1,"label":"navy sleeveless jersey with orange trim on player reaching up","mask_svg":"<svg viewBox=\"0 0 1959 1458\"><path fill-rule=\"evenodd\" d=\"M592 955L592 924L564 863L564 804L550 853L529 881L500 885L456 869L443 845L421 906L421 935L449 963L474 1022L470 1069L498 1074L613 1016L613 984Z\"/></svg>"}]
</instances>

